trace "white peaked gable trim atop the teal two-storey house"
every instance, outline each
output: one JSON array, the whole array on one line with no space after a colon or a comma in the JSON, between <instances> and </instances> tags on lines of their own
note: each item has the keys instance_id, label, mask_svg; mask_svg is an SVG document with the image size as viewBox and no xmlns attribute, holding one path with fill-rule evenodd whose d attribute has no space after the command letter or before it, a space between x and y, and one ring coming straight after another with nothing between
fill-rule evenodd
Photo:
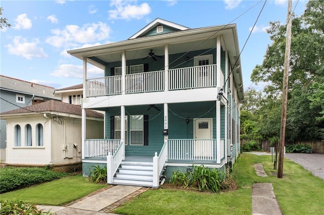
<instances>
[{"instance_id":1,"label":"white peaked gable trim atop the teal two-storey house","mask_svg":"<svg viewBox=\"0 0 324 215\"><path fill-rule=\"evenodd\" d=\"M164 20L164 19L156 18L153 22L146 25L144 28L142 28L136 34L131 36L129 39L135 39L137 37L144 36L147 32L149 32L150 30L152 30L153 28L155 28L156 26L159 26L159 25L168 26L170 28L180 30L180 31L190 29L190 28L187 28L185 26L182 26L182 25L179 25L179 24L176 24L176 23Z\"/></svg>"}]
</instances>

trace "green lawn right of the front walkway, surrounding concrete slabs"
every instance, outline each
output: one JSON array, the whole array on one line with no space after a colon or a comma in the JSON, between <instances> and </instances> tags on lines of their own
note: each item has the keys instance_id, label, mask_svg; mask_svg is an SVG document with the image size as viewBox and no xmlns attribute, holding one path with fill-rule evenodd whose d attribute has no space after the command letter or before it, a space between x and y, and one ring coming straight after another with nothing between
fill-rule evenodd
<instances>
[{"instance_id":1,"label":"green lawn right of the front walkway, surrounding concrete slabs","mask_svg":"<svg viewBox=\"0 0 324 215\"><path fill-rule=\"evenodd\" d=\"M268 177L259 177L254 164L263 164ZM273 173L273 174L271 174ZM272 183L284 214L323 214L324 181L285 159L284 177L277 178L269 155L243 153L235 163L238 190L220 194L148 190L113 212L120 214L251 214L252 184Z\"/></svg>"}]
</instances>

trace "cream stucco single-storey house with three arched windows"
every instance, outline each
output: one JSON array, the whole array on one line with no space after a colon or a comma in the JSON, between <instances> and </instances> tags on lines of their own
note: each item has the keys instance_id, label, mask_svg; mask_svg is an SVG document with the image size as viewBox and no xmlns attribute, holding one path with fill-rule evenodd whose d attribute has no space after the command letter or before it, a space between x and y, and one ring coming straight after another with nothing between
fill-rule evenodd
<instances>
[{"instance_id":1,"label":"cream stucco single-storey house with three arched windows","mask_svg":"<svg viewBox=\"0 0 324 215\"><path fill-rule=\"evenodd\" d=\"M7 121L7 165L82 169L82 109L49 100L0 114ZM103 138L103 115L87 110L89 139ZM62 167L65 165L65 167Z\"/></svg>"}]
</instances>

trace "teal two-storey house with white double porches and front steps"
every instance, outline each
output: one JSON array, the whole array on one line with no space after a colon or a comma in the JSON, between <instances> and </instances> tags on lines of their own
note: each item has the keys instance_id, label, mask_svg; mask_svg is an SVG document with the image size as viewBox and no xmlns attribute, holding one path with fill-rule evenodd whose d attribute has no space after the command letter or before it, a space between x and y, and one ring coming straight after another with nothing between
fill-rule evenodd
<instances>
[{"instance_id":1,"label":"teal two-storey house with white double porches and front steps","mask_svg":"<svg viewBox=\"0 0 324 215\"><path fill-rule=\"evenodd\" d=\"M68 53L84 65L84 175L107 165L109 184L158 187L176 170L235 162L244 95L236 24L190 29L157 18L128 40ZM89 79L88 64L102 77ZM103 139L87 137L88 109L105 112Z\"/></svg>"}]
</instances>

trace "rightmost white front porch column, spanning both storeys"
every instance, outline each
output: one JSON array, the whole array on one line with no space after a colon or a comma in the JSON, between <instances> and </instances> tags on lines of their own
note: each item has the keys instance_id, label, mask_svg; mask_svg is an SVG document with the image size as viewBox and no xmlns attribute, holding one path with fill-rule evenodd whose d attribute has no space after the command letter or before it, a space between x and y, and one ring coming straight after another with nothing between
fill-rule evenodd
<instances>
[{"instance_id":1,"label":"rightmost white front porch column, spanning both storeys","mask_svg":"<svg viewBox=\"0 0 324 215\"><path fill-rule=\"evenodd\" d=\"M222 88L221 76L221 38L217 37L217 48L216 48L216 70L217 70L217 87ZM221 163L221 101L216 100L216 145L217 145L217 163Z\"/></svg>"}]
</instances>

